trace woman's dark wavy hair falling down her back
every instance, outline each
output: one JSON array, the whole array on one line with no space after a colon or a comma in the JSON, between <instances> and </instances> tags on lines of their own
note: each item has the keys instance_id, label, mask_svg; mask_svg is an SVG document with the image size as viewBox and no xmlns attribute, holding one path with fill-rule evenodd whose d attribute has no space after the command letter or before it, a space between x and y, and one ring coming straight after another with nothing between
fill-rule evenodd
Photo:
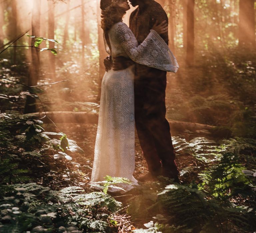
<instances>
[{"instance_id":1,"label":"woman's dark wavy hair falling down her back","mask_svg":"<svg viewBox=\"0 0 256 233\"><path fill-rule=\"evenodd\" d=\"M104 33L107 33L110 28L120 21L125 14L125 11L117 5L118 2L124 0L101 0L100 9L101 11L101 28Z\"/></svg>"}]
</instances>

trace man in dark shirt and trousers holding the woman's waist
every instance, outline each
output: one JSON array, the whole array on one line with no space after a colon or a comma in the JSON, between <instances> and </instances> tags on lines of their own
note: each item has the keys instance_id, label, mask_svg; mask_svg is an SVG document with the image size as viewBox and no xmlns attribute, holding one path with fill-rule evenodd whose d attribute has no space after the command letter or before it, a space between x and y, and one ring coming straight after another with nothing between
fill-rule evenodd
<instances>
[{"instance_id":1,"label":"man in dark shirt and trousers holding the woman's waist","mask_svg":"<svg viewBox=\"0 0 256 233\"><path fill-rule=\"evenodd\" d=\"M160 4L154 0L130 0L137 6L130 16L130 29L138 44L147 37L156 20L158 23L168 17ZM168 32L161 35L168 45ZM131 61L124 57L115 58L114 70L127 68ZM170 126L165 118L166 71L135 64L134 97L135 123L143 155L149 172L139 181L153 180L159 175L178 182L178 169L172 145Z\"/></svg>"}]
</instances>

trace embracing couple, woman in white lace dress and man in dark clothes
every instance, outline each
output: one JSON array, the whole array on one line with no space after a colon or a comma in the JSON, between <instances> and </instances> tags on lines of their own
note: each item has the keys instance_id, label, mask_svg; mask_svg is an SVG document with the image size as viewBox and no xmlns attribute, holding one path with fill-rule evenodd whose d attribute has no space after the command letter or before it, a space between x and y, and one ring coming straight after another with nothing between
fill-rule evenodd
<instances>
[{"instance_id":1,"label":"embracing couple, woman in white lace dress and man in dark clothes","mask_svg":"<svg viewBox=\"0 0 256 233\"><path fill-rule=\"evenodd\" d=\"M170 126L165 118L166 72L179 65L168 48L168 18L154 0L130 0L137 6L130 28L122 18L127 0L101 0L106 51L112 66L104 74L100 99L91 183L106 175L124 177L126 191L139 181L163 175L178 182L178 169ZM136 180L135 125L148 164L146 174ZM109 188L110 192L120 191Z\"/></svg>"}]
</instances>

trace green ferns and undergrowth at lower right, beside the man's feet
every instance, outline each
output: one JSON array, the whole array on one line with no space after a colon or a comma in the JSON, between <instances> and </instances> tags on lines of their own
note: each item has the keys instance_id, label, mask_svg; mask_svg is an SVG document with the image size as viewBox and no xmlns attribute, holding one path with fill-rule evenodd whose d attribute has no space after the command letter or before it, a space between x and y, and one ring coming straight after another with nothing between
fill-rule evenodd
<instances>
[{"instance_id":1,"label":"green ferns and undergrowth at lower right, beside the man's feet","mask_svg":"<svg viewBox=\"0 0 256 233\"><path fill-rule=\"evenodd\" d=\"M198 174L201 182L173 184L172 180L162 177L159 182L136 187L138 194L129 200L127 212L134 221L141 216L145 221L156 217L144 224L147 230L135 232L255 231L256 170L246 170L240 163L243 154L255 155L255 140L230 139L218 147L212 142L209 146L214 145L215 152L212 147L210 153L217 155L212 161L200 158L209 153L209 148L198 147L198 139L192 139L191 144L178 137L174 141L179 152L200 151L198 154L202 154L199 161L204 170Z\"/></svg>"}]
</instances>

